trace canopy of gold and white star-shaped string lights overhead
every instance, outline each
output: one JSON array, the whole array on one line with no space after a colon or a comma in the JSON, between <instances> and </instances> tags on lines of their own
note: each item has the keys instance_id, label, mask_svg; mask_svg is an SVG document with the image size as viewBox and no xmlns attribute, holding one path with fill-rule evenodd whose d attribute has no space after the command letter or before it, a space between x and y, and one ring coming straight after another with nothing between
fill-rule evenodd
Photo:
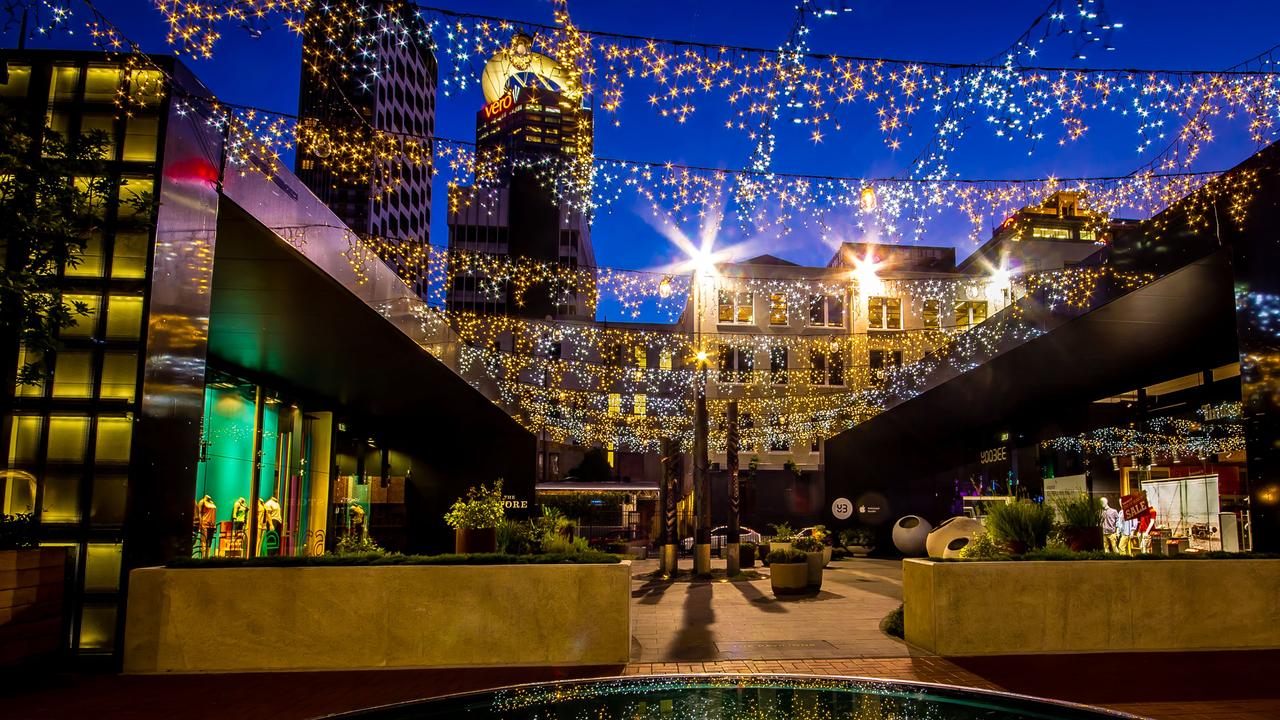
<instances>
[{"instance_id":1,"label":"canopy of gold and white star-shaped string lights overhead","mask_svg":"<svg viewBox=\"0 0 1280 720\"><path fill-rule=\"evenodd\" d=\"M166 82L172 78L92 0L46 0L37 13L41 32L87 32L104 50L127 58L136 81L119 95L122 113L172 92L182 111L225 133L228 161L242 172L275 172L282 154L293 151L390 193L406 167L426 167L448 187L451 202L463 196L456 191L468 190L467 197L483 204L483 191L499 182L494 169L506 164L531 170L554 197L586 217L608 213L630 197L671 227L695 222L714 229L732 220L755 233L804 229L826 238L840 220L874 231L882 241L914 242L925 237L938 214L959 213L969 223L970 238L978 240L983 228L1059 191L1087 199L1089 231L1100 242L1114 218L1149 218L1174 204L1192 225L1238 223L1256 190L1256 174L1204 172L1196 160L1207 143L1228 133L1258 146L1271 142L1280 123L1276 49L1212 70L1089 67L1094 53L1105 56L1124 27L1101 0L1048 1L1004 53L979 63L818 54L809 46L812 28L849 9L831 0L800 1L787 37L774 49L586 29L573 22L563 1L556 3L545 24L398 1L155 0L154 6L168 23L172 50L202 59L216 55L224 32L255 32L269 20L289 32L317 31L328 42L308 44L303 54L303 72L317 78L367 85L387 72L379 47L416 44L434 53L443 95L460 102L477 85L492 100L502 82L494 63L545 65L558 73L559 92L595 113L595 132L622 122L623 106L646 108L648 122L671 133L681 132L701 106L728 109L722 132L742 135L754 147L739 168L598 156L593 124L575 131L572 152L494 158L463 138L380 131L355 105L349 122L303 124L288 113L187 95ZM1074 65L1041 64L1044 49L1064 33L1071 38ZM157 91L156 83L163 88ZM1133 131L1132 146L1115 149L1134 154L1128 174L973 178L952 170L952 158L973 133L986 131L1034 155L1048 145L1084 141L1103 118L1128 123ZM774 169L782 127L792 135L799 127L808 142L835 143L846 128L868 122L887 151L905 150L914 140L910 145L918 154L901 173L841 177ZM275 229L291 242L305 242L314 228ZM1158 241L1161 229L1153 224L1147 232ZM979 274L915 277L877 269L867 258L806 277L722 275L718 269L730 258L687 241L681 245L686 261L659 272L444 250L412 237L352 233L349 242L348 260L357 270L388 261L406 282L425 288L421 322L445 324L456 333L458 369L494 384L526 427L557 441L620 450L652 450L664 438L691 443L690 388L700 382L718 386L710 401L713 419L723 415L730 400L739 402L744 447L809 445L918 392L938 372L972 368L1011 341L1034 337L1041 331L1025 322L1028 309L1084 309L1106 288L1132 290L1153 279L1107 268L1011 274L1001 266ZM458 278L471 278L476 292L517 306L536 290L573 299L590 314L607 300L631 316L657 315L671 324L627 327L460 311L445 302ZM703 304L714 311L726 295L741 293L765 302L771 315L800 324L815 297L836 297L849 309L841 313L850 331L877 297L906 299L909 306L897 311L911 315L928 315L933 307L937 316L938 307L943 310L942 319L918 329L882 323L865 332L703 332L695 319ZM978 297L992 300L991 318L952 322L957 300ZM736 311L733 301L730 306ZM888 329L896 332L882 332ZM786 352L806 361L799 365L804 369L723 361L744 351L753 357ZM868 360L873 351L881 357L897 355L873 368ZM822 373L815 372L814 357L824 359ZM1166 454L1236 442L1234 434L1199 432L1180 425L1116 429L1055 442L1117 452L1158 446ZM713 421L710 443L723 447L719 423Z\"/></svg>"}]
</instances>

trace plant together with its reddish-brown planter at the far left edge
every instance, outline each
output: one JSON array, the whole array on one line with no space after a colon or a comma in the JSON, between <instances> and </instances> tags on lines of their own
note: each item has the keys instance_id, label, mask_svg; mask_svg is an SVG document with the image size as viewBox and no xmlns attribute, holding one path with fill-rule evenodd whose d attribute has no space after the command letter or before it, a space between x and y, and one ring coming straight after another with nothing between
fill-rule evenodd
<instances>
[{"instance_id":1,"label":"plant together with its reddish-brown planter at the far left edge","mask_svg":"<svg viewBox=\"0 0 1280 720\"><path fill-rule=\"evenodd\" d=\"M67 548L38 547L31 515L0 515L0 637L14 638L10 661L58 652L65 587Z\"/></svg>"}]
</instances>

